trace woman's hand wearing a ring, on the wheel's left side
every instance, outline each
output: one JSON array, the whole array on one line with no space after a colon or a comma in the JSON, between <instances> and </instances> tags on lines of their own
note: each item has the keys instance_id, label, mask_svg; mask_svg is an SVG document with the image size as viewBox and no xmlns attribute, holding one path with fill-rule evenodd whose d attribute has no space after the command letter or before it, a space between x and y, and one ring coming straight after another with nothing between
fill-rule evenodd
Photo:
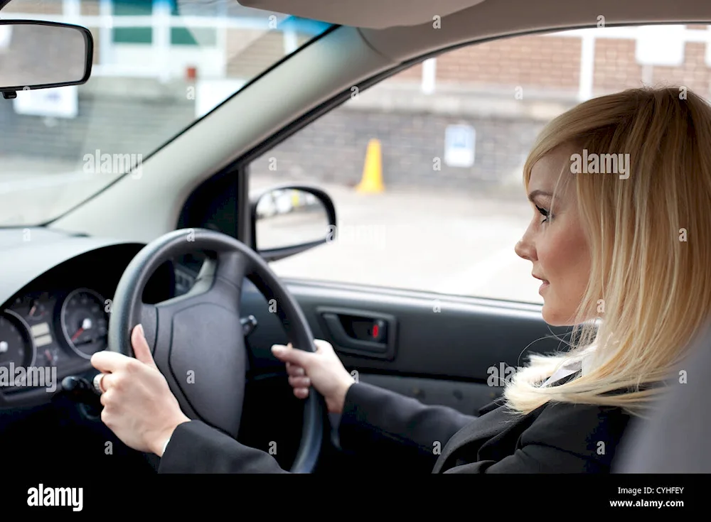
<instances>
[{"instance_id":1,"label":"woman's hand wearing a ring, on the wheel's left side","mask_svg":"<svg viewBox=\"0 0 711 522\"><path fill-rule=\"evenodd\" d=\"M181 411L168 381L156 366L138 325L131 335L136 358L98 352L91 364L104 374L101 420L125 445L162 457L173 430L190 419Z\"/></svg>"}]
</instances>

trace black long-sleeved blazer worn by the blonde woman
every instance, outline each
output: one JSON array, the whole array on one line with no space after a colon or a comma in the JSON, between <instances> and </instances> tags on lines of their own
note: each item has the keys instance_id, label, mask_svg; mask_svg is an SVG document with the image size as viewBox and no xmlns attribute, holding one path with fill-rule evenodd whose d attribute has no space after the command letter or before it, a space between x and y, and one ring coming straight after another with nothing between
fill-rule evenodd
<instances>
[{"instance_id":1,"label":"black long-sleeved blazer worn by the blonde woman","mask_svg":"<svg viewBox=\"0 0 711 522\"><path fill-rule=\"evenodd\" d=\"M609 473L629 421L619 408L567 403L550 403L513 418L494 401L481 413L472 417L424 406L358 383L346 395L338 435L343 450L375 455L392 470ZM272 455L191 420L173 432L159 473L288 472Z\"/></svg>"}]
</instances>

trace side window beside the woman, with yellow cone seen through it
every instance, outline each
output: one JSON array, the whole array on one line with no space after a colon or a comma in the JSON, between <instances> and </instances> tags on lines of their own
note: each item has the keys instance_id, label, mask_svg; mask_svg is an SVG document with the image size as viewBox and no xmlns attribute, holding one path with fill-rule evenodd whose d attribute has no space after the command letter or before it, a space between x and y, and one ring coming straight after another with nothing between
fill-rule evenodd
<instances>
[{"instance_id":1,"label":"side window beside the woman, with yellow cone seen through it","mask_svg":"<svg viewBox=\"0 0 711 522\"><path fill-rule=\"evenodd\" d=\"M522 168L542 126L630 87L709 92L707 26L600 25L443 53L353 89L348 102L257 158L252 190L313 183L338 215L335 241L275 261L274 271L542 303L530 262L514 252L533 217Z\"/></svg>"}]
</instances>

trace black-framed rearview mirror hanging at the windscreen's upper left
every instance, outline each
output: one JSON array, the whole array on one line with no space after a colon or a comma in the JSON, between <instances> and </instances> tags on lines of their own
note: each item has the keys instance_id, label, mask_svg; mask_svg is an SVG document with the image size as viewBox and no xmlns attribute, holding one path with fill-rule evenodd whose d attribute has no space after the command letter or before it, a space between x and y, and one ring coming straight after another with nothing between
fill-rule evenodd
<instances>
[{"instance_id":1,"label":"black-framed rearview mirror hanging at the windscreen's upper left","mask_svg":"<svg viewBox=\"0 0 711 522\"><path fill-rule=\"evenodd\" d=\"M89 80L94 40L91 32L68 23L0 21L0 91L81 85Z\"/></svg>"}]
</instances>

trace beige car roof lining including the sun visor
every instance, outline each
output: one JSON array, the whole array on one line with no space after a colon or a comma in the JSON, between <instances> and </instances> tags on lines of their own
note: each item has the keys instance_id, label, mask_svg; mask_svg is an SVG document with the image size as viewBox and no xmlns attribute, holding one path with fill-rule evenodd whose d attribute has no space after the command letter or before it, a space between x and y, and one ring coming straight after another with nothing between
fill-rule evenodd
<instances>
[{"instance_id":1,"label":"beige car roof lining including the sun visor","mask_svg":"<svg viewBox=\"0 0 711 522\"><path fill-rule=\"evenodd\" d=\"M569 28L707 23L708 0L242 0L267 11L360 28L378 53L406 62L444 48L506 35ZM439 28L434 16L441 16ZM419 22L418 22L419 21Z\"/></svg>"}]
</instances>

